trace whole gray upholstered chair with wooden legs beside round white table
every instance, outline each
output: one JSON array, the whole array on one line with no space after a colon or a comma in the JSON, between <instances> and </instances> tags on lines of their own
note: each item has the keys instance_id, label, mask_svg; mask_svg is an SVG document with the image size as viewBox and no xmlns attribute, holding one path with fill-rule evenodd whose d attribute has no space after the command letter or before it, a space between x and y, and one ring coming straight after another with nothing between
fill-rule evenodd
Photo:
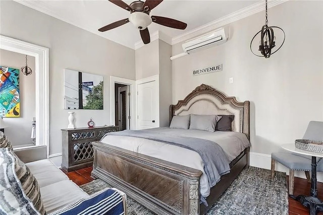
<instances>
[{"instance_id":1,"label":"whole gray upholstered chair with wooden legs beside round white table","mask_svg":"<svg viewBox=\"0 0 323 215\"><path fill-rule=\"evenodd\" d=\"M303 139L323 140L323 122L310 121L308 123ZM309 171L311 170L311 157L305 155L296 155L292 152L272 153L272 179L275 176L275 162L278 162L289 169L289 187L288 193L294 192L294 171L305 171L307 181L310 182ZM323 172L323 159L317 160L317 172Z\"/></svg>"}]
</instances>

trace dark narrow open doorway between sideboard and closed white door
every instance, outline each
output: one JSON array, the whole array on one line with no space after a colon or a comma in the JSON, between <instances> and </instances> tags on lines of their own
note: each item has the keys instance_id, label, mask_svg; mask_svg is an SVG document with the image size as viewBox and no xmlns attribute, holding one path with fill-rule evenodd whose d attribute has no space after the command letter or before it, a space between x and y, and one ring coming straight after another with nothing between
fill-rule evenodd
<instances>
[{"instance_id":1,"label":"dark narrow open doorway between sideboard and closed white door","mask_svg":"<svg viewBox=\"0 0 323 215\"><path fill-rule=\"evenodd\" d=\"M120 131L130 129L129 115L129 86L125 84L115 84L115 113L116 126L119 126Z\"/></svg>"}]
</instances>

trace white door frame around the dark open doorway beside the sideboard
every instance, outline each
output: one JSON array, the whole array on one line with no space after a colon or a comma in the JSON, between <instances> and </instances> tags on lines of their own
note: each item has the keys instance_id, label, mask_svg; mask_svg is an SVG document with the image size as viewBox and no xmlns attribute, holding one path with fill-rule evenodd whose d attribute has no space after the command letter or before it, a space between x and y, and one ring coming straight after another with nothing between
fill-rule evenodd
<instances>
[{"instance_id":1,"label":"white door frame around the dark open doorway beside the sideboard","mask_svg":"<svg viewBox=\"0 0 323 215\"><path fill-rule=\"evenodd\" d=\"M116 99L115 99L115 84L125 84L129 85L129 91L130 91L130 98L129 98L129 108L130 108L130 129L131 130L136 130L137 129L137 116L136 114L136 81L135 80L130 80L126 78L120 78L116 76L110 76L110 124L111 125L116 125L116 110L115 110L115 104L116 104Z\"/></svg>"}]
</instances>

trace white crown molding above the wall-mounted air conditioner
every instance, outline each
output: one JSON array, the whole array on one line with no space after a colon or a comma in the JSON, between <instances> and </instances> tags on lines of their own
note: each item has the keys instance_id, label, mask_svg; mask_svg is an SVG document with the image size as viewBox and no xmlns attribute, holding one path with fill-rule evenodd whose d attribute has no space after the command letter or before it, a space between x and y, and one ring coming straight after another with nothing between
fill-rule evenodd
<instances>
[{"instance_id":1,"label":"white crown molding above the wall-mounted air conditioner","mask_svg":"<svg viewBox=\"0 0 323 215\"><path fill-rule=\"evenodd\" d=\"M288 0L273 0L273 1L268 1L267 7L272 8L277 5L283 4L287 2ZM258 2L256 4L253 4L249 7L243 8L241 10L238 10L234 13L231 13L227 16L224 16L220 19L214 20L212 22L209 22L205 25L202 25L198 28L195 28L193 30L190 30L188 32L185 32L181 35L175 36L172 38L172 42L170 43L171 45L174 45L176 43L182 42L189 40L191 38L194 38L196 36L208 33L210 31L216 30L220 27L223 27L227 24L233 23L235 21L238 21L240 19L243 19L245 17L251 16L253 14L256 14L258 12L264 11L264 1Z\"/></svg>"}]
</instances>

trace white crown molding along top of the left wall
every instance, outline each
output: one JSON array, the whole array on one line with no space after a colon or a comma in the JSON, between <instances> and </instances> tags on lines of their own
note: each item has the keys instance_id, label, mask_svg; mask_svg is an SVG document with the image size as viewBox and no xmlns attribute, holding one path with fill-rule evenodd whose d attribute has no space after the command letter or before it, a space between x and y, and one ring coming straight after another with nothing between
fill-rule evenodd
<instances>
[{"instance_id":1,"label":"white crown molding along top of the left wall","mask_svg":"<svg viewBox=\"0 0 323 215\"><path fill-rule=\"evenodd\" d=\"M41 3L41 1L30 1L30 0L13 0L13 1L17 2L17 3L21 4L21 5L24 5L24 6L28 7L28 8L34 9L36 11L39 11L39 12L41 12L43 14L46 14L48 16L51 16L51 17L54 17L56 19L62 20L63 22L69 23L69 24L74 25L74 26L76 26L78 28L81 28L83 30L89 31L89 32L91 32L93 34L96 34L96 35L98 35L100 37L103 37L105 39L109 39L109 38L106 38L106 37L102 36L102 34L97 30L89 30L85 26L82 26L82 25L74 23L73 21L71 21L67 17L62 17L62 16L58 15L57 13L51 11L46 6L44 6ZM109 39L109 40L113 41L112 39ZM114 41L114 42L116 42L116 41ZM123 44L123 43L120 43L120 42L116 42L116 43L124 45L124 46L126 46L128 48L134 49L134 46L129 46L129 45L126 45L126 44Z\"/></svg>"}]
</instances>

